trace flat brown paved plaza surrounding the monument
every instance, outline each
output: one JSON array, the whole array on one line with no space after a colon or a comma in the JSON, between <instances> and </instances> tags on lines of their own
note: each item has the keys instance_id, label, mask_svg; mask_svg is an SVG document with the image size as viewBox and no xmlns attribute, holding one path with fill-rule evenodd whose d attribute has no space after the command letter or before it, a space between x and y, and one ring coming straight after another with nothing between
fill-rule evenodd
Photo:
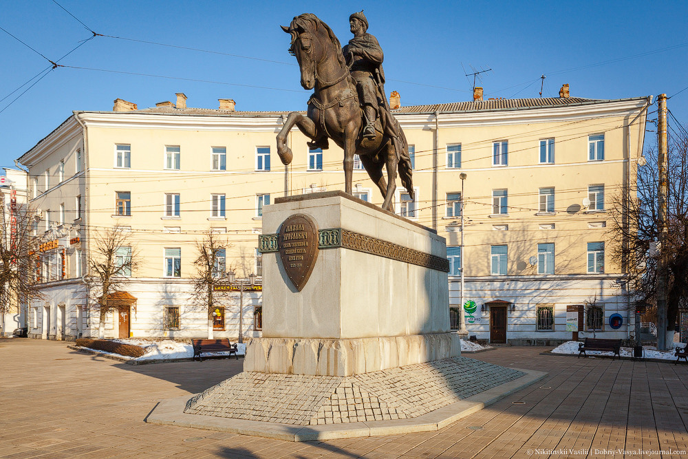
<instances>
[{"instance_id":1,"label":"flat brown paved plaza surrounding the monument","mask_svg":"<svg viewBox=\"0 0 688 459\"><path fill-rule=\"evenodd\" d=\"M688 449L688 365L540 355L544 350L471 356L549 374L439 431L286 442L143 422L160 399L202 392L241 372L241 360L126 365L56 341L0 340L0 457L686 456L679 451Z\"/></svg>"}]
</instances>

